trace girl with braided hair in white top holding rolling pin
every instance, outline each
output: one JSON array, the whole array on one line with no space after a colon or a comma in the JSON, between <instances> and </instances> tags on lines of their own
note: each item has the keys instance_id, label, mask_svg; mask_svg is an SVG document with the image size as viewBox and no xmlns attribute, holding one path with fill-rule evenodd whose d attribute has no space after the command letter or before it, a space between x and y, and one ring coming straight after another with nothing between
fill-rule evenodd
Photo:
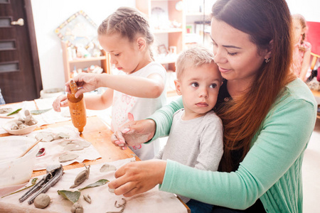
<instances>
[{"instance_id":1,"label":"girl with braided hair in white top holding rolling pin","mask_svg":"<svg viewBox=\"0 0 320 213\"><path fill-rule=\"evenodd\" d=\"M82 87L76 97L98 87L108 87L102 95L85 97L87 109L105 109L112 105L112 131L127 121L145 119L166 104L166 70L154 62L150 46L154 36L149 23L136 9L121 7L102 21L98 40L110 53L117 75L80 74L73 80ZM66 84L69 89L69 82ZM53 102L53 109L68 106L66 96ZM134 148L140 159L147 160L159 151L159 142Z\"/></svg>"}]
</instances>

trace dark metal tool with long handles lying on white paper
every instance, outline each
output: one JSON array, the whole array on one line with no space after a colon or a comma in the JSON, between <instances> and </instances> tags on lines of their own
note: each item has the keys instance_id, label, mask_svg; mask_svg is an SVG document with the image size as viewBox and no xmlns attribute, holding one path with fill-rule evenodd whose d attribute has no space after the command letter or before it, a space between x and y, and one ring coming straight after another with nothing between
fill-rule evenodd
<instances>
[{"instance_id":1,"label":"dark metal tool with long handles lying on white paper","mask_svg":"<svg viewBox=\"0 0 320 213\"><path fill-rule=\"evenodd\" d=\"M31 190L28 190L26 194L19 198L20 202L23 202L28 199L34 192L30 200L28 200L28 204L32 204L38 195L41 193L45 193L49 190L50 187L55 185L63 175L63 165L49 165L47 168L47 175L43 176L42 180L40 180L36 185L34 185Z\"/></svg>"}]
</instances>

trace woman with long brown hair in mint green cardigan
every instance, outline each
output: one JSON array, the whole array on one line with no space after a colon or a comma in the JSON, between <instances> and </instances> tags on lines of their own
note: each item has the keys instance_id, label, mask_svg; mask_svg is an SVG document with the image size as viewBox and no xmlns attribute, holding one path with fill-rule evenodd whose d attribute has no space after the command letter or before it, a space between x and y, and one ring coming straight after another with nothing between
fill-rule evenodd
<instances>
[{"instance_id":1,"label":"woman with long brown hair in mint green cardigan","mask_svg":"<svg viewBox=\"0 0 320 213\"><path fill-rule=\"evenodd\" d=\"M218 0L212 16L214 60L225 78L217 109L225 128L220 171L147 160L119 168L109 187L130 197L161 184L160 190L214 204L213 212L302 212L302 158L314 129L316 102L289 70L287 3ZM166 136L181 107L178 99L150 119L129 123L130 131L117 132L112 141L125 138L128 146L136 146Z\"/></svg>"}]
</instances>

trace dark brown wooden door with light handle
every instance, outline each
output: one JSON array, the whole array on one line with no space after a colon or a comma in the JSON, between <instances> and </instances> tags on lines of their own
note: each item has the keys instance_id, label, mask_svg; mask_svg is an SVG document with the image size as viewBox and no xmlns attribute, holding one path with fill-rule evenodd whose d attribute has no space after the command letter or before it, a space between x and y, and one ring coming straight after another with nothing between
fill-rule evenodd
<instances>
[{"instance_id":1,"label":"dark brown wooden door with light handle","mask_svg":"<svg viewBox=\"0 0 320 213\"><path fill-rule=\"evenodd\" d=\"M6 103L40 97L31 0L0 0L0 89Z\"/></svg>"}]
</instances>

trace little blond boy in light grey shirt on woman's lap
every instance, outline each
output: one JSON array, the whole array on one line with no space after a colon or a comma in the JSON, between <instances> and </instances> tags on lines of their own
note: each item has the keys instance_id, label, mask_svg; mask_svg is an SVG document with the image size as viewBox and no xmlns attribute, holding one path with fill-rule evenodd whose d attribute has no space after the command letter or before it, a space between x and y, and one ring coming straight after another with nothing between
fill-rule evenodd
<instances>
[{"instance_id":1,"label":"little blond boy in light grey shirt on woman's lap","mask_svg":"<svg viewBox=\"0 0 320 213\"><path fill-rule=\"evenodd\" d=\"M156 159L175 160L200 170L218 170L223 155L223 124L212 110L223 84L213 54L191 48L176 62L176 92L183 109L176 111L166 146ZM191 212L211 212L213 206L181 197Z\"/></svg>"}]
</instances>

